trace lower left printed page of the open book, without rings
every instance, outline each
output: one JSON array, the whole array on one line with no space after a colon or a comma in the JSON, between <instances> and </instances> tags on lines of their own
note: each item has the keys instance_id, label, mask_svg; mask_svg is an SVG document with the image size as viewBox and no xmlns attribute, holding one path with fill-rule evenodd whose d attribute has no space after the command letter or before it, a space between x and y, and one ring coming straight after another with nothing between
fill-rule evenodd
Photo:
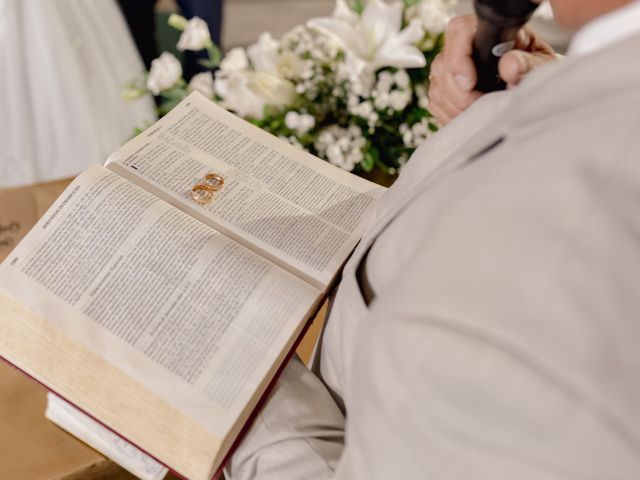
<instances>
[{"instance_id":1,"label":"lower left printed page of the open book, without rings","mask_svg":"<svg viewBox=\"0 0 640 480\"><path fill-rule=\"evenodd\" d=\"M0 290L219 438L320 296L100 166L7 257Z\"/></svg>"}]
</instances>

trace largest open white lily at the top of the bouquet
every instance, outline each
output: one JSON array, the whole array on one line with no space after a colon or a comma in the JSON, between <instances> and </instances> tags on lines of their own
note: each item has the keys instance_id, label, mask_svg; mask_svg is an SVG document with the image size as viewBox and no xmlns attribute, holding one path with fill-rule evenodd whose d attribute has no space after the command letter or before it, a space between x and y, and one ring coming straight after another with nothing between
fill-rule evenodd
<instances>
[{"instance_id":1,"label":"largest open white lily at the top of the bouquet","mask_svg":"<svg viewBox=\"0 0 640 480\"><path fill-rule=\"evenodd\" d=\"M370 0L358 16L338 0L333 17L311 19L307 26L333 38L374 70L424 67L424 55L416 47L424 37L421 22L416 19L402 29L403 10L401 1Z\"/></svg>"}]
</instances>

